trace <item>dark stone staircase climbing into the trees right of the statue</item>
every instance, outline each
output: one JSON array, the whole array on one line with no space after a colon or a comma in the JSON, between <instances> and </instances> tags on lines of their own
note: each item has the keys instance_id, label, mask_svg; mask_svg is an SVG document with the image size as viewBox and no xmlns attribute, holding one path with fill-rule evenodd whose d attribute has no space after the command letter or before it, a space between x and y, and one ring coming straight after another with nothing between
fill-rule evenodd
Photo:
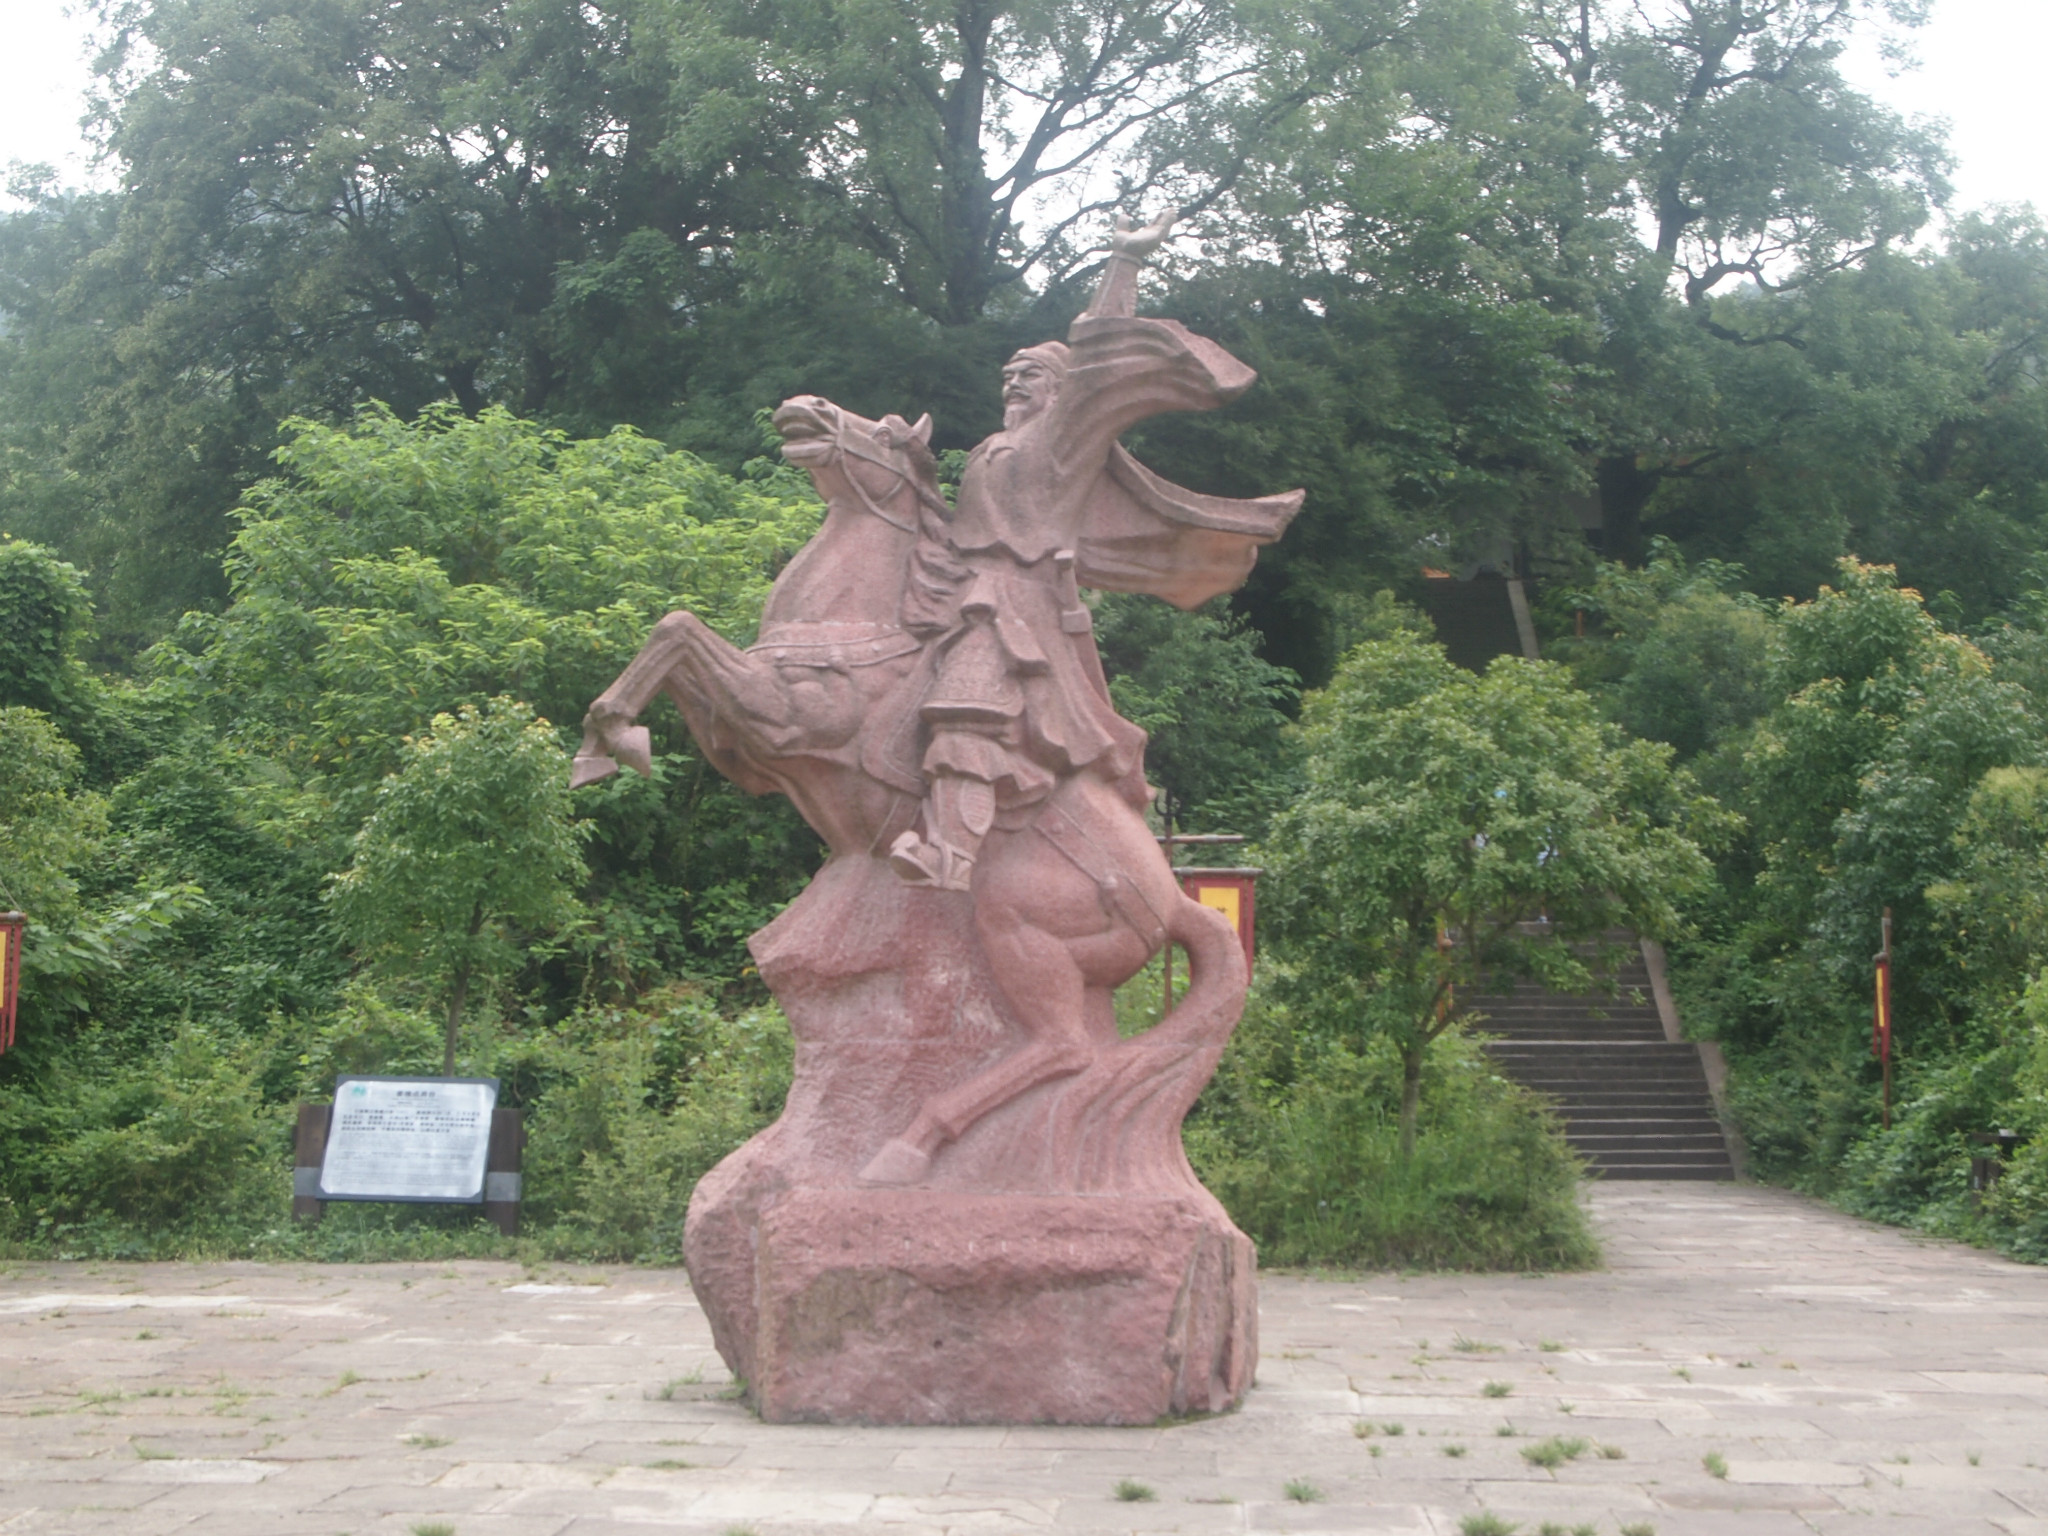
<instances>
[{"instance_id":1,"label":"dark stone staircase climbing into the trees right of the statue","mask_svg":"<svg viewBox=\"0 0 2048 1536\"><path fill-rule=\"evenodd\" d=\"M1534 983L1468 995L1487 1055L1550 1098L1565 1137L1610 1180L1733 1180L1700 1047L1665 1034L1640 952L1620 993L1563 997Z\"/></svg>"}]
</instances>

